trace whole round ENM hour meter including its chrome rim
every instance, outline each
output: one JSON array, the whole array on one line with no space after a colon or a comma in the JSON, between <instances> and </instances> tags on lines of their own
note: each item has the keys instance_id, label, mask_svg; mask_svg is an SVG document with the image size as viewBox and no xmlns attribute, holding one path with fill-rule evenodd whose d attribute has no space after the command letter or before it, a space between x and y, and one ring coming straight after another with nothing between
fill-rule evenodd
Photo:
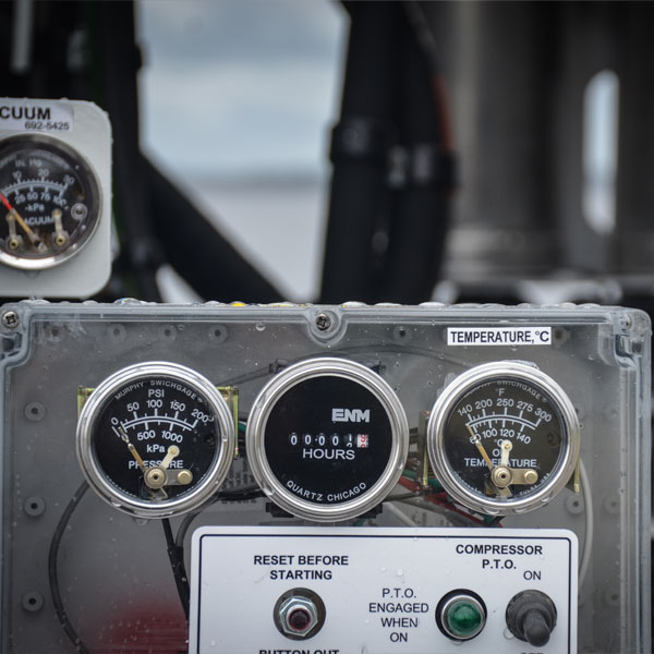
<instances>
[{"instance_id":1,"label":"whole round ENM hour meter including its chrome rim","mask_svg":"<svg viewBox=\"0 0 654 654\"><path fill-rule=\"evenodd\" d=\"M378 505L407 460L407 416L373 371L314 359L279 373L247 421L247 458L259 486L286 511L318 522Z\"/></svg>"}]
</instances>

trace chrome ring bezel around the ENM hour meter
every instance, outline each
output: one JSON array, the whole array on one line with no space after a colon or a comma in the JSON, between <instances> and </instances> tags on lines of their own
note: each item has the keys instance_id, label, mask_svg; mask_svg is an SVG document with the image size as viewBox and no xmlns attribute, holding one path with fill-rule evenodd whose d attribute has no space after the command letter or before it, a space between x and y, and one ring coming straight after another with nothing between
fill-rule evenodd
<instances>
[{"instance_id":1,"label":"chrome ring bezel around the ENM hour meter","mask_svg":"<svg viewBox=\"0 0 654 654\"><path fill-rule=\"evenodd\" d=\"M277 401L298 384L323 376L341 377L360 384L380 402L391 426L391 455L376 483L354 499L335 505L307 501L290 493L272 472L265 447L266 424ZM278 507L314 522L340 522L370 511L395 488L409 455L409 423L392 388L366 366L346 359L312 359L281 371L263 388L247 420L245 445L254 477Z\"/></svg>"}]
</instances>

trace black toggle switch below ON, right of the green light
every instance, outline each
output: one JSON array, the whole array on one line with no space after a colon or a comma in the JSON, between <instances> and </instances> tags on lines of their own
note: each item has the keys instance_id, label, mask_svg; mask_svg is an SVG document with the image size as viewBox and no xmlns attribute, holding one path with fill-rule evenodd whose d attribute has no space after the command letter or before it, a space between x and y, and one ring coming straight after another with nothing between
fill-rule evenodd
<instances>
[{"instance_id":1,"label":"black toggle switch below ON, right of the green light","mask_svg":"<svg viewBox=\"0 0 654 654\"><path fill-rule=\"evenodd\" d=\"M534 647L549 642L556 626L556 606L541 591L522 591L507 606L507 627L519 640Z\"/></svg>"}]
</instances>

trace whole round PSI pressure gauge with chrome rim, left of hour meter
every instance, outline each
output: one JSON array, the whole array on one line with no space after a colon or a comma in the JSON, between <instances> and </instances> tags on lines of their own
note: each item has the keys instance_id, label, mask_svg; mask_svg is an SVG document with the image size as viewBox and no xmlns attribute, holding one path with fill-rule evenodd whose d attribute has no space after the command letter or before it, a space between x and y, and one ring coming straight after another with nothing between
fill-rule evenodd
<instances>
[{"instance_id":1,"label":"whole round PSI pressure gauge with chrome rim, left of hour meter","mask_svg":"<svg viewBox=\"0 0 654 654\"><path fill-rule=\"evenodd\" d=\"M102 382L84 404L77 457L90 486L146 518L196 508L233 458L229 408L211 383L166 362L136 364Z\"/></svg>"}]
</instances>

